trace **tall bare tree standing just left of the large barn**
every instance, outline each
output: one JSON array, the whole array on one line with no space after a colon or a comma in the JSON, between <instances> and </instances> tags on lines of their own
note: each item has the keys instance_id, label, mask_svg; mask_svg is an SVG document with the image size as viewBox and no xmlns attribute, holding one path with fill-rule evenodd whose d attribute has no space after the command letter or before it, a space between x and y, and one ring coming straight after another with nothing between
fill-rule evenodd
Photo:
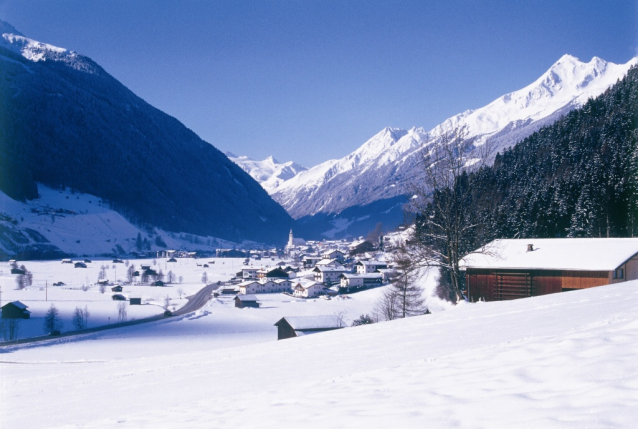
<instances>
[{"instance_id":1,"label":"tall bare tree standing just left of the large barn","mask_svg":"<svg viewBox=\"0 0 638 429\"><path fill-rule=\"evenodd\" d=\"M477 246L481 222L472 210L469 173L486 165L488 143L475 145L466 127L444 132L421 152L422 177L415 183L410 211L416 214L412 236L402 251L420 267L436 267L448 277L455 302L462 299L461 258ZM400 250L401 251L401 250Z\"/></svg>"}]
</instances>

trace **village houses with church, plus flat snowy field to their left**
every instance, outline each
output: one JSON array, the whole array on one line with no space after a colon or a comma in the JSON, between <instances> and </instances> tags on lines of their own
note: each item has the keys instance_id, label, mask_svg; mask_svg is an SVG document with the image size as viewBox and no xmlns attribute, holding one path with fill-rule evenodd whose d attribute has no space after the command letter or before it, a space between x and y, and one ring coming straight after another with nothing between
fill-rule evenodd
<instances>
[{"instance_id":1,"label":"village houses with church, plus flat snowy field to their left","mask_svg":"<svg viewBox=\"0 0 638 429\"><path fill-rule=\"evenodd\" d=\"M217 254L230 252L240 251L221 250ZM303 311L277 313L267 320L275 329L275 323L286 316L319 317L313 319L310 331L299 328L288 335L298 336L301 331L342 328L371 312L371 299L366 299L362 307L352 297L389 284L396 272L390 254L383 250L383 238L376 245L363 238L305 242L294 238L291 231L283 249L241 252L239 258L206 258L193 251L162 250L152 259L10 260L7 269L0 270L2 319L13 321L3 323L3 340L64 336L97 326L116 327L131 320L169 317L204 290L210 291L210 296L206 295L199 307L209 298L213 304L239 309L280 306L282 302L335 302L338 310L308 311L306 307ZM47 330L43 323L51 305L64 323L59 329ZM74 314L84 311L83 306L91 317L78 325ZM15 320L20 320L19 326ZM321 320L320 326L317 320ZM281 332L278 337L287 338Z\"/></svg>"}]
</instances>

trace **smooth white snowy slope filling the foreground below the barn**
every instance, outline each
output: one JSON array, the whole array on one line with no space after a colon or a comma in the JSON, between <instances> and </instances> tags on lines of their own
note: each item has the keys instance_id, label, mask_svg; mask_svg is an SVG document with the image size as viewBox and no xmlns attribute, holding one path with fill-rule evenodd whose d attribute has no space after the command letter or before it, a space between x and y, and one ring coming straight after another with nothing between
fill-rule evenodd
<instances>
[{"instance_id":1,"label":"smooth white snowy slope filling the foreground below the barn","mask_svg":"<svg viewBox=\"0 0 638 429\"><path fill-rule=\"evenodd\" d=\"M250 323L260 311L237 313ZM0 426L562 429L638 419L638 282L242 347L211 348L219 330L199 331L198 351L174 346L208 317L168 322L166 353L146 347L162 324L6 350Z\"/></svg>"}]
</instances>

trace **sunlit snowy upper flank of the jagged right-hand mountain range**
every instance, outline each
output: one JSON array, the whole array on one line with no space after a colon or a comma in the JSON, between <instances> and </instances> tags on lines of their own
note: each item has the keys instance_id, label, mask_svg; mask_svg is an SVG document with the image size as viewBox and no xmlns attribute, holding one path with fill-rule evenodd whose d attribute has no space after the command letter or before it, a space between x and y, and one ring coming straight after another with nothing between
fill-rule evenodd
<instances>
[{"instance_id":1,"label":"sunlit snowy upper flank of the jagged right-hand mountain range","mask_svg":"<svg viewBox=\"0 0 638 429\"><path fill-rule=\"evenodd\" d=\"M272 196L299 219L403 195L418 174L415 154L445 131L467 126L468 137L478 144L489 141L494 150L503 149L600 95L637 63L637 58L619 65L597 57L584 63L565 55L521 90L453 116L430 131L385 128L346 157L300 172Z\"/></svg>"}]
</instances>

